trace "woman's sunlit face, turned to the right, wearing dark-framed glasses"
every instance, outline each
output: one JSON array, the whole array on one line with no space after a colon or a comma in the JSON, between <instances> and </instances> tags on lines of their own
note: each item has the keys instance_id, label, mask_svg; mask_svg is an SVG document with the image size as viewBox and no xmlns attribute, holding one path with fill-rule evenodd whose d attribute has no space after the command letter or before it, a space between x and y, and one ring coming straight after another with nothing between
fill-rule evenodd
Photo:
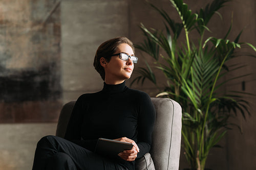
<instances>
[{"instance_id":1,"label":"woman's sunlit face, turned to the right, wearing dark-framed glasses","mask_svg":"<svg viewBox=\"0 0 256 170\"><path fill-rule=\"evenodd\" d=\"M129 56L134 56L133 49L130 45L122 43L118 46L114 54L125 53ZM121 60L119 55L112 56L109 62L102 65L105 70L106 84L120 84L124 80L129 79L134 69L134 63L131 58L127 61Z\"/></svg>"}]
</instances>

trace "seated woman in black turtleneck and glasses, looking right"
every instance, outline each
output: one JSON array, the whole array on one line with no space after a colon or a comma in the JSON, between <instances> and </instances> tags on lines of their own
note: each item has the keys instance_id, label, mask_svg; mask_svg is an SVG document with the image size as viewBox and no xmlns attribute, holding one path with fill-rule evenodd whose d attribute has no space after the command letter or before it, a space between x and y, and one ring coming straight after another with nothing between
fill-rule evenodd
<instances>
[{"instance_id":1,"label":"seated woman in black turtleneck and glasses, looking right","mask_svg":"<svg viewBox=\"0 0 256 170\"><path fill-rule=\"evenodd\" d=\"M125 86L138 58L126 37L103 42L94 67L103 89L82 94L73 108L65 138L45 136L37 143L33 170L135 169L135 159L150 151L155 109L150 96ZM98 138L134 144L116 157L94 153Z\"/></svg>"}]
</instances>

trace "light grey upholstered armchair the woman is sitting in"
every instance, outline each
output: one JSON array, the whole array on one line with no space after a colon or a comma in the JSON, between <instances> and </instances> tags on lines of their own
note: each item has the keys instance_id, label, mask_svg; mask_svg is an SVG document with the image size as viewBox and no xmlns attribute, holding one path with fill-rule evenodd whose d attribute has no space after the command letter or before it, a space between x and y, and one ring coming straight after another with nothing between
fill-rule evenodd
<instances>
[{"instance_id":1,"label":"light grey upholstered armchair the woman is sitting in","mask_svg":"<svg viewBox=\"0 0 256 170\"><path fill-rule=\"evenodd\" d=\"M171 99L151 98L156 108L156 122L150 153L136 159L139 170L178 170L181 144L181 106ZM56 136L65 136L75 101L65 104L60 112Z\"/></svg>"}]
</instances>

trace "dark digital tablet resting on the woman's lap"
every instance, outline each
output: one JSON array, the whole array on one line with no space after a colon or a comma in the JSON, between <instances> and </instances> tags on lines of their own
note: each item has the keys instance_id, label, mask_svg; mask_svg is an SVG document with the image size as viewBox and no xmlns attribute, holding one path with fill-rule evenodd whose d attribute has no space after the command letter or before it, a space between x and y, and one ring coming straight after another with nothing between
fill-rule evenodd
<instances>
[{"instance_id":1,"label":"dark digital tablet resting on the woman's lap","mask_svg":"<svg viewBox=\"0 0 256 170\"><path fill-rule=\"evenodd\" d=\"M120 152L131 150L132 148L133 143L99 138L96 144L95 153L105 156L117 156Z\"/></svg>"}]
</instances>

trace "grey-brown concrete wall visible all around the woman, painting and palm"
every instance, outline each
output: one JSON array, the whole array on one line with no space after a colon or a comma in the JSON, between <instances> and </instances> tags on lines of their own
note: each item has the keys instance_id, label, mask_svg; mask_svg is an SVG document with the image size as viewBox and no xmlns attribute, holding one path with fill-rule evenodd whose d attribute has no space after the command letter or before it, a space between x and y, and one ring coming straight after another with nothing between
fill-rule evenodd
<instances>
[{"instance_id":1,"label":"grey-brown concrete wall visible all around the woman, painting and palm","mask_svg":"<svg viewBox=\"0 0 256 170\"><path fill-rule=\"evenodd\" d=\"M170 15L177 16L167 0L152 2L169 10ZM184 2L189 3L193 10L204 7L205 3L203 0ZM233 12L233 30L230 39L233 39L245 26L241 39L256 45L255 8L254 0L230 3L221 10L223 21L220 21L216 15L213 18L215 22L209 25L215 30L213 36L224 35ZM143 36L138 27L140 22L147 27L163 28L159 15L143 1L137 0L66 0L61 1L60 11L62 103L76 100L81 93L98 91L102 88L103 82L92 66L95 51L101 42L115 36L127 36L134 43L141 42ZM137 51L136 54L142 58L143 53ZM239 62L248 64L248 70L244 71L255 73L255 59L241 58ZM143 60L140 59L137 67L143 64ZM246 84L247 92L254 92L256 74L244 80L254 80ZM129 83L130 81L127 81L127 85ZM144 90L151 96L157 93L151 83L146 83L144 86L135 84L133 88ZM241 82L230 84L227 89L230 88L241 89ZM243 133L241 134L238 129L229 131L221 141L224 148L213 149L210 153L207 167L214 170L256 168L255 96L250 97L250 101L251 116L247 117L246 121L241 116L231 120L241 125ZM0 124L0 153L2 153L0 169L31 169L36 142L41 136L55 134L55 129L56 124ZM180 169L187 166L181 152Z\"/></svg>"}]
</instances>

